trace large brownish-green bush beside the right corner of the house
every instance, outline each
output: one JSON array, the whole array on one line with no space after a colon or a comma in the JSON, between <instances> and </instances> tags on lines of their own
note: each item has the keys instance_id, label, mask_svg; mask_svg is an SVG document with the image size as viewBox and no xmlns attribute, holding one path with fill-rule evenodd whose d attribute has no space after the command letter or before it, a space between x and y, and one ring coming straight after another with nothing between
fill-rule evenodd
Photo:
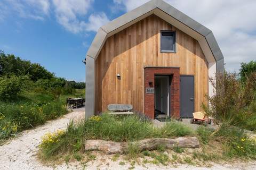
<instances>
[{"instance_id":1,"label":"large brownish-green bush beside the right corner of the house","mask_svg":"<svg viewBox=\"0 0 256 170\"><path fill-rule=\"evenodd\" d=\"M236 73L228 72L217 74L211 82L215 91L213 96L207 97L210 107L203 108L214 118L214 123L255 129L256 73L251 73L243 83Z\"/></svg>"}]
</instances>

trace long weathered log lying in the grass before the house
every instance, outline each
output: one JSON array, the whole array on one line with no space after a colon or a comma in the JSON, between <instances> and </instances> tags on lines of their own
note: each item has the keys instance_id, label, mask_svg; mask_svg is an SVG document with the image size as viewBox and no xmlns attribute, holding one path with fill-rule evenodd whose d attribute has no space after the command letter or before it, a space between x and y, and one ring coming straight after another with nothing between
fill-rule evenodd
<instances>
[{"instance_id":1,"label":"long weathered log lying in the grass before the house","mask_svg":"<svg viewBox=\"0 0 256 170\"><path fill-rule=\"evenodd\" d=\"M150 138L131 142L140 150L155 150L159 145L165 145L167 149L174 147L180 148L199 148L199 141L196 137L180 137L176 139L169 138ZM128 148L127 142L112 142L106 140L87 140L85 142L85 150L99 150L106 154L123 154Z\"/></svg>"}]
</instances>

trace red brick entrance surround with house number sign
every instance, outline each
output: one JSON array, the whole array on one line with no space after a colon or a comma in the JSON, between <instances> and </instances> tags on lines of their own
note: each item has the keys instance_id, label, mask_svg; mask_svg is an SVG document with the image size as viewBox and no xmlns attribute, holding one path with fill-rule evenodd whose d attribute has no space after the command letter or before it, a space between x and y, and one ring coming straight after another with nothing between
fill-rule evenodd
<instances>
[{"instance_id":1,"label":"red brick entrance surround with house number sign","mask_svg":"<svg viewBox=\"0 0 256 170\"><path fill-rule=\"evenodd\" d=\"M157 84L159 84L160 82L160 80L158 80L158 76L162 76L162 78L159 77L159 79L163 79L161 80L161 89L160 85L156 86L155 89L155 81L158 82ZM166 78L169 80L166 81ZM169 116L180 118L179 67L145 67L144 88L144 114L146 116L152 119L156 118L155 111L157 110L159 111L160 114L162 114L165 117ZM156 93L155 90L157 91ZM159 98L159 96L161 97ZM155 105L157 105L157 107L155 107Z\"/></svg>"}]
</instances>

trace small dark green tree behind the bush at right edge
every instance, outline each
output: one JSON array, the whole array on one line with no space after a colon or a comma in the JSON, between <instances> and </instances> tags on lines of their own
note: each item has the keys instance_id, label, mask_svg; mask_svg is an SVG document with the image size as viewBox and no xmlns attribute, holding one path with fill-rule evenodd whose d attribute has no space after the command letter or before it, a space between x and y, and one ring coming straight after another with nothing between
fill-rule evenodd
<instances>
[{"instance_id":1,"label":"small dark green tree behind the bush at right edge","mask_svg":"<svg viewBox=\"0 0 256 170\"><path fill-rule=\"evenodd\" d=\"M245 82L247 77L250 77L250 75L253 72L256 72L256 61L251 61L249 63L242 63L241 69L239 70L240 73L240 79L242 82Z\"/></svg>"}]
</instances>

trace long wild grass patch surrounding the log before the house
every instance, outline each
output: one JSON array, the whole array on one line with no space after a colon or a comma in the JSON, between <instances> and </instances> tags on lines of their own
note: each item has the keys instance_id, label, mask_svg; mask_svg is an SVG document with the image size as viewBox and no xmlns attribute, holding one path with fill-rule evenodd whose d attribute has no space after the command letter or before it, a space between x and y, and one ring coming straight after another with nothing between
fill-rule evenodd
<instances>
[{"instance_id":1,"label":"long wild grass patch surrounding the log before the house","mask_svg":"<svg viewBox=\"0 0 256 170\"><path fill-rule=\"evenodd\" d=\"M188 151L175 146L170 155L170 151L164 145L159 145L155 151L141 151L136 142L131 142L146 138L174 138L186 135L196 135L201 142L201 148ZM45 142L46 145L41 144L41 158L50 160L53 157L61 158L62 155L82 153L85 141L91 139L128 142L129 147L122 158L132 161L143 157L144 164L167 165L171 162L204 165L205 162L230 161L237 158L256 159L255 141L250 140L247 134L238 128L223 125L218 130L213 130L199 126L193 132L176 121L170 121L162 128L155 128L151 122L137 115L112 116L109 114L93 116L89 120L81 120L76 124L71 122L58 140L49 145L47 142ZM119 154L111 158L114 162L118 159L121 159Z\"/></svg>"}]
</instances>

